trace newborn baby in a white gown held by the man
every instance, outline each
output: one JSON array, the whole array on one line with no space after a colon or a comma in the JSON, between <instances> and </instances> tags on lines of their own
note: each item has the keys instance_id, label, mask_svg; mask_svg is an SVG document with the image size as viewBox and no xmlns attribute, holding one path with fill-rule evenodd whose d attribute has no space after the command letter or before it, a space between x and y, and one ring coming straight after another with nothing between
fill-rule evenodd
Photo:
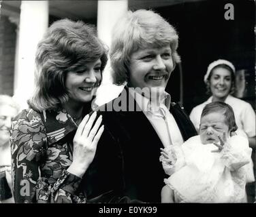
<instances>
[{"instance_id":1,"label":"newborn baby in a white gown held by the man","mask_svg":"<svg viewBox=\"0 0 256 217\"><path fill-rule=\"evenodd\" d=\"M182 146L161 149L165 173L162 203L245 202L251 170L249 141L233 135L234 111L224 102L211 102L202 112L199 136ZM254 181L251 177L250 181Z\"/></svg>"}]
</instances>

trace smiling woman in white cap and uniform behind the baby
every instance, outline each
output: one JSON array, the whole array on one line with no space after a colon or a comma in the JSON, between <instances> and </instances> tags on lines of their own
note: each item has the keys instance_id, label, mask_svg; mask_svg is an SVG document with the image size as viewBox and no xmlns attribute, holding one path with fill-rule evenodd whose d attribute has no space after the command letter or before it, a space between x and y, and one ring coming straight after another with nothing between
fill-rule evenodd
<instances>
[{"instance_id":1,"label":"smiling woman in white cap and uniform behind the baby","mask_svg":"<svg viewBox=\"0 0 256 217\"><path fill-rule=\"evenodd\" d=\"M255 149L256 130L255 130L255 111L251 104L231 96L235 91L235 73L234 65L227 60L217 60L208 66L204 82L208 92L212 94L206 102L195 106L190 114L190 119L198 132L200 117L204 106L210 102L220 101L229 104L235 113L238 130L236 134L246 136L249 139L249 145Z\"/></svg>"}]
</instances>

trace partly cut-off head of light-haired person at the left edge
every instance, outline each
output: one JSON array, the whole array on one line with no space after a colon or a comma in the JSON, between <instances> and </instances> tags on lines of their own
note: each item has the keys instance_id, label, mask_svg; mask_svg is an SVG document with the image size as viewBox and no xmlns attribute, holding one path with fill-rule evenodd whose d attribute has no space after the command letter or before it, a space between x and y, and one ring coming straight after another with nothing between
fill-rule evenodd
<instances>
[{"instance_id":1,"label":"partly cut-off head of light-haired person at the left edge","mask_svg":"<svg viewBox=\"0 0 256 217\"><path fill-rule=\"evenodd\" d=\"M0 146L10 139L10 129L12 119L16 116L17 111L9 105L0 106Z\"/></svg>"}]
</instances>

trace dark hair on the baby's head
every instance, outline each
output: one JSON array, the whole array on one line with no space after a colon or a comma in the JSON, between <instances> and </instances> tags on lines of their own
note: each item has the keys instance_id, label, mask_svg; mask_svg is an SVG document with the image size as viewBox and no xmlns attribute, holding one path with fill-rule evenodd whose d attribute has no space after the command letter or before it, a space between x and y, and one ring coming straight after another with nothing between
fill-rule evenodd
<instances>
[{"instance_id":1,"label":"dark hair on the baby's head","mask_svg":"<svg viewBox=\"0 0 256 217\"><path fill-rule=\"evenodd\" d=\"M222 113L225 116L224 121L229 127L230 133L238 130L234 111L229 104L226 104L225 102L210 102L209 104L206 104L202 111L201 119L210 113Z\"/></svg>"}]
</instances>

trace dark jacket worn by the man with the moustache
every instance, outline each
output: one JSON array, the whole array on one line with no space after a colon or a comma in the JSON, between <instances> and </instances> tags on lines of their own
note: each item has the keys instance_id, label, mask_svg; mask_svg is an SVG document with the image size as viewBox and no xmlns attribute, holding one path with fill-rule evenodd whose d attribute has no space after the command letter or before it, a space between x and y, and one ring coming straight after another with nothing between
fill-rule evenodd
<instances>
[{"instance_id":1,"label":"dark jacket worn by the man with the moustache","mask_svg":"<svg viewBox=\"0 0 256 217\"><path fill-rule=\"evenodd\" d=\"M124 99L127 111L106 111ZM131 111L133 105L136 103L125 88L118 98L99 108L104 132L82 184L91 202L161 202L163 179L168 177L159 161L163 144L144 113ZM183 140L197 135L178 104L171 104L170 113Z\"/></svg>"}]
</instances>

